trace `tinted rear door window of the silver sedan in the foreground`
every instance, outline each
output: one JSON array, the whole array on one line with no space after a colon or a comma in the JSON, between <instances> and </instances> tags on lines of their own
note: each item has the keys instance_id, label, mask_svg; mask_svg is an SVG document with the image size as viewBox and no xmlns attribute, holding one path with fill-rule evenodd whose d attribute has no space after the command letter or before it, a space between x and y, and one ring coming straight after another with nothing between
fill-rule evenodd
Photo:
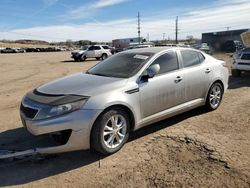
<instances>
[{"instance_id":1,"label":"tinted rear door window of the silver sedan in the foreground","mask_svg":"<svg viewBox=\"0 0 250 188\"><path fill-rule=\"evenodd\" d=\"M190 67L201 63L199 53L191 50L181 51L184 67Z\"/></svg>"}]
</instances>

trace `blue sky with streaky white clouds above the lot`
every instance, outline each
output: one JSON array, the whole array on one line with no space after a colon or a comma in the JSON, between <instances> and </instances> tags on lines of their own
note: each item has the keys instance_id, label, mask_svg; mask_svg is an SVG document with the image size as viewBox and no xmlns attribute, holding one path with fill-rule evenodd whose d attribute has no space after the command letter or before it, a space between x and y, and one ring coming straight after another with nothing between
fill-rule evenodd
<instances>
[{"instance_id":1,"label":"blue sky with streaky white clouds above the lot","mask_svg":"<svg viewBox=\"0 0 250 188\"><path fill-rule=\"evenodd\" d=\"M201 38L201 33L250 28L250 0L1 0L0 40L111 41L137 37ZM165 34L163 34L165 33Z\"/></svg>"}]
</instances>

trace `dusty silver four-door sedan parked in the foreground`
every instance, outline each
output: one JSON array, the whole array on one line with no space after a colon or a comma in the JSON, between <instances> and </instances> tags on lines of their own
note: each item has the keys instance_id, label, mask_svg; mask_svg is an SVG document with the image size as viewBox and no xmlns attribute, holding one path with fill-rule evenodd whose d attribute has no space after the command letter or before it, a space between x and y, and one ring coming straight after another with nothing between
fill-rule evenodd
<instances>
[{"instance_id":1,"label":"dusty silver four-door sedan parked in the foreground","mask_svg":"<svg viewBox=\"0 0 250 188\"><path fill-rule=\"evenodd\" d=\"M217 109L227 87L226 63L201 51L135 49L30 91L20 114L33 135L60 142L37 148L40 153L112 154L131 131L199 106Z\"/></svg>"}]
</instances>

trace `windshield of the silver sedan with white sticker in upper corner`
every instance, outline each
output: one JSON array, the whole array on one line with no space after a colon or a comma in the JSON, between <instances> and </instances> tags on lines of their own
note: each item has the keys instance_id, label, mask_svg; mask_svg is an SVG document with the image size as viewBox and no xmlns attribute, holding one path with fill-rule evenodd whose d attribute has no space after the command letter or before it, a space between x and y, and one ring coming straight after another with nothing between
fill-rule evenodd
<instances>
[{"instance_id":1,"label":"windshield of the silver sedan with white sticker in upper corner","mask_svg":"<svg viewBox=\"0 0 250 188\"><path fill-rule=\"evenodd\" d=\"M87 71L99 76L129 78L135 75L153 53L118 53Z\"/></svg>"}]
</instances>

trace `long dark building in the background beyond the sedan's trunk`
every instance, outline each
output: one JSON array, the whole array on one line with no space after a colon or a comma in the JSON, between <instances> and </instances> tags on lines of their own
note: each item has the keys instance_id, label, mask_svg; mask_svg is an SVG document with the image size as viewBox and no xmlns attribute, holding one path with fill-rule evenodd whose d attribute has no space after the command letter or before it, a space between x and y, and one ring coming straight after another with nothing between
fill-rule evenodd
<instances>
[{"instance_id":1,"label":"long dark building in the background beyond the sedan's trunk","mask_svg":"<svg viewBox=\"0 0 250 188\"><path fill-rule=\"evenodd\" d=\"M229 30L211 33L202 33L202 43L207 43L215 50L221 50L228 41L241 41L240 35L248 29Z\"/></svg>"}]
</instances>

